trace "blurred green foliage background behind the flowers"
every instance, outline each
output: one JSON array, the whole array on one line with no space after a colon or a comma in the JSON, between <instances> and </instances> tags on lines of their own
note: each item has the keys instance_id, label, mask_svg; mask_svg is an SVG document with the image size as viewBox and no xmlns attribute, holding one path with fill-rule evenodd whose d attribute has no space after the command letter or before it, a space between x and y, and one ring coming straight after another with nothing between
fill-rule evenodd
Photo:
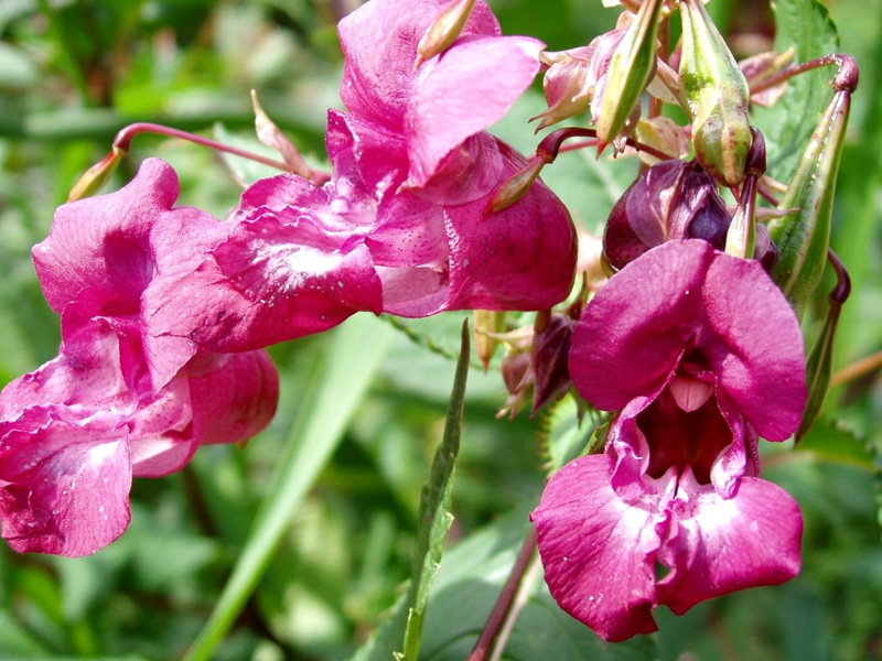
<instances>
[{"instance_id":1,"label":"blurred green foliage background behind the flowers","mask_svg":"<svg viewBox=\"0 0 882 661\"><path fill-rule=\"evenodd\" d=\"M491 4L506 33L536 35L555 50L588 43L616 17L599 0ZM43 301L30 249L46 236L78 176L109 151L116 131L154 121L254 147L254 88L295 144L323 164L325 112L340 107L335 23L355 6L0 0L0 384L57 351L58 322ZM854 281L840 335L843 366L882 348L882 1L827 7L843 48L862 67L833 238ZM713 0L709 9L740 54L771 46L773 19L764 2ZM541 102L535 90L498 132L530 151L535 138L524 121ZM245 178L268 174L178 140L139 137L110 188L149 155L176 169L182 204L222 218L241 191L230 171ZM546 180L577 220L596 228L634 167L577 154L549 169ZM441 437L454 368L441 354L455 353L463 316L408 322L417 342L387 321L374 322L392 335L390 348L354 423L291 512L265 579L217 659L345 659L380 621L409 574L419 492ZM807 324L807 336L815 330ZM245 449L207 447L180 474L136 481L132 524L110 548L66 560L19 555L0 543L0 660L180 658L229 574L280 453L309 407L333 335L275 347L283 389L272 426ZM515 532L506 549L516 549L525 512L544 484L542 418L495 420L506 398L498 372L472 372L454 554L445 566L465 556L455 555L458 540L509 512L518 513L504 524ZM881 407L880 380L871 373L833 391L813 433L816 451L767 456L765 476L790 490L805 511L803 575L783 587L701 605L684 618L659 613L660 659L882 659L882 548L874 458L864 452L882 438ZM504 577L503 571L487 582ZM456 594L451 599L441 587L435 611L430 606L438 620L430 620L424 655L462 658L442 630L444 604L455 608ZM467 617L477 629L486 613ZM525 643L508 658L550 658L537 640L535 654ZM600 648L573 649L573 658L589 659ZM601 651L602 658L625 658Z\"/></svg>"}]
</instances>

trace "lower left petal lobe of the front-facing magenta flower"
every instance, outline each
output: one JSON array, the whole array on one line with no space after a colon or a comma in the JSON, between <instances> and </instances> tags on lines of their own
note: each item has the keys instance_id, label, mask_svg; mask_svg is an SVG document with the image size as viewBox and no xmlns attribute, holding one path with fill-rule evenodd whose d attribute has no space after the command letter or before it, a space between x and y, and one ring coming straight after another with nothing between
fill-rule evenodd
<instances>
[{"instance_id":1,"label":"lower left petal lobe of the front-facing magenta flower","mask_svg":"<svg viewBox=\"0 0 882 661\"><path fill-rule=\"evenodd\" d=\"M605 456L564 466L530 519L546 582L563 610L610 641L657 629L650 611L660 544L656 529L664 523L652 509L615 495Z\"/></svg>"}]
</instances>

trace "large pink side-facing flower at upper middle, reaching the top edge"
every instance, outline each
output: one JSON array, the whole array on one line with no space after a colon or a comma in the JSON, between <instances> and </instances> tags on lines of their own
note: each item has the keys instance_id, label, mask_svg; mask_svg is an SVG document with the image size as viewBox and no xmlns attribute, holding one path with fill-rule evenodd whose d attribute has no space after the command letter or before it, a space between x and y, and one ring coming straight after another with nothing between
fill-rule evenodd
<instances>
[{"instance_id":1,"label":"large pink side-facing flower at upper middle, reaching the top edge","mask_svg":"<svg viewBox=\"0 0 882 661\"><path fill-rule=\"evenodd\" d=\"M501 36L478 0L461 36L415 69L443 0L372 0L340 23L346 57L326 145L331 181L257 182L229 236L152 319L212 350L252 349L330 328L357 311L537 310L572 285L576 232L540 182L484 216L526 160L485 129L539 71L542 44ZM552 268L551 268L552 267Z\"/></svg>"}]
</instances>

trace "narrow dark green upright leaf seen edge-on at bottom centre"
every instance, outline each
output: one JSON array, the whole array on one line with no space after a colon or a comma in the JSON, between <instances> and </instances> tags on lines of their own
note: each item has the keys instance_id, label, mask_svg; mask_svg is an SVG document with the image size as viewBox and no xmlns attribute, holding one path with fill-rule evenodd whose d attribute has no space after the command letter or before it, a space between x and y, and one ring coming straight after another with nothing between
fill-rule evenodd
<instances>
[{"instance_id":1,"label":"narrow dark green upright leaf seen edge-on at bottom centre","mask_svg":"<svg viewBox=\"0 0 882 661\"><path fill-rule=\"evenodd\" d=\"M435 452L431 477L422 490L420 501L420 528L413 553L413 577L408 590L410 606L405 629L405 648L402 653L396 653L396 658L401 661L417 661L419 658L429 589L441 568L444 542L450 524L453 522L450 509L453 501L453 475L462 436L469 358L472 353L470 337L469 322L463 322L462 348L460 349L460 360L456 364L456 376L453 379L453 390L450 393L444 437Z\"/></svg>"}]
</instances>

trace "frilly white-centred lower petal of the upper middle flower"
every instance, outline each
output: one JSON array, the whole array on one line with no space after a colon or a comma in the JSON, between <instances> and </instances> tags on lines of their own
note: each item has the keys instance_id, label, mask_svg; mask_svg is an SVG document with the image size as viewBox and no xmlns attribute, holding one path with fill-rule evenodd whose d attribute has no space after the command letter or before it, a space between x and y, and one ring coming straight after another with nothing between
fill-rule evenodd
<instances>
[{"instance_id":1,"label":"frilly white-centred lower petal of the upper middle flower","mask_svg":"<svg viewBox=\"0 0 882 661\"><path fill-rule=\"evenodd\" d=\"M272 185L292 181L276 177ZM319 188L308 191L303 205L256 209L196 271L157 292L152 333L191 337L211 351L243 351L326 330L357 311L379 313L370 254L332 209Z\"/></svg>"}]
</instances>

